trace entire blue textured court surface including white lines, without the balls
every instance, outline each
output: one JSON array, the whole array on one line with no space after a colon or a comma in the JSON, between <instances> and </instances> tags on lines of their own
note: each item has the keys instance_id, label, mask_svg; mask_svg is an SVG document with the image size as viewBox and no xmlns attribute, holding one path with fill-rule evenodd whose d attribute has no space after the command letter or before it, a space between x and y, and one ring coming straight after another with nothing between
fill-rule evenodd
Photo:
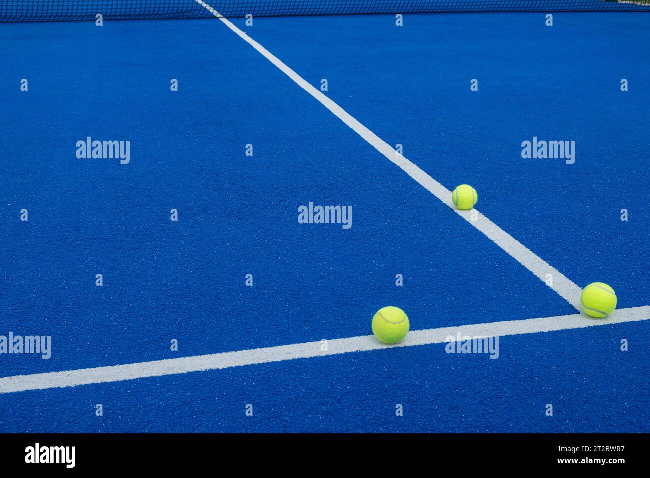
<instances>
[{"instance_id":1,"label":"entire blue textured court surface including white lines, without the balls","mask_svg":"<svg viewBox=\"0 0 650 478\"><path fill-rule=\"evenodd\" d=\"M0 2L2 431L650 432L647 2L51 3Z\"/></svg>"}]
</instances>

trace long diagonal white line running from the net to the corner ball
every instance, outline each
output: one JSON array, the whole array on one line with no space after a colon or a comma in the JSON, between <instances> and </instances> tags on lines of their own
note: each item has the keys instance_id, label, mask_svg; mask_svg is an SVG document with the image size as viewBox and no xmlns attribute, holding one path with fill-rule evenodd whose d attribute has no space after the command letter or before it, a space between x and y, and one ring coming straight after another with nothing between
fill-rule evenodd
<instances>
[{"instance_id":1,"label":"long diagonal white line running from the net to the corner ball","mask_svg":"<svg viewBox=\"0 0 650 478\"><path fill-rule=\"evenodd\" d=\"M528 271L535 274L539 280L546 283L548 280L547 276L550 275L552 277L552 285L549 287L551 287L551 289L558 293L564 300L569 302L569 304L571 304L577 310L580 310L580 294L582 293L582 289L580 289L578 285L571 282L571 280L565 277L564 274L549 265L549 263L543 259L539 258L530 249L526 248L526 246L517 241L517 239L502 230L499 226L497 226L497 224L487 219L487 217L478 211L461 211L460 209L456 209L456 207L454 207L454 203L452 202L451 191L449 191L446 187L441 185L438 181L435 181L434 178L426 174L426 172L421 170L415 164L411 163L411 161L406 159L406 157L398 154L391 146L389 146L389 144L372 133L372 131L363 126L363 124L359 123L353 116L348 114L343 108L337 105L337 103L330 100L330 98L322 94L322 92L313 86L309 85L309 83L307 83L307 81L298 75L298 73L291 70L289 66L285 65L278 58L272 55L272 53L270 53L265 47L261 46L259 43L255 42L255 40L250 38L250 36L248 36L246 33L235 27L235 25L224 18L219 12L214 10L214 8L207 5L207 3L203 2L202 0L196 0L196 3L199 3L203 7L207 8L211 14L216 16L216 18L221 20L229 29L239 35L242 40L250 44L250 46L259 51L259 53L261 53L267 60L278 67L281 72L285 73L285 75L291 78L296 83L296 85L300 86L300 88L305 90L316 100L320 101L324 107L330 110L331 113L335 114L335 116L337 116L337 118L343 121L347 126L354 129L354 131L356 131L360 137L365 139L371 146L378 150L378 152L382 153L387 159L389 159L389 161L392 161L395 163L395 165L402 168L406 174L415 179L415 181L424 187L424 189L429 191L443 203L447 204L447 206L456 211L460 217L467 220L469 224L474 226L480 232L484 233L497 246L502 248L516 261L521 263L521 265L526 267ZM476 213L476 220L471 220L473 212Z\"/></svg>"}]
</instances>

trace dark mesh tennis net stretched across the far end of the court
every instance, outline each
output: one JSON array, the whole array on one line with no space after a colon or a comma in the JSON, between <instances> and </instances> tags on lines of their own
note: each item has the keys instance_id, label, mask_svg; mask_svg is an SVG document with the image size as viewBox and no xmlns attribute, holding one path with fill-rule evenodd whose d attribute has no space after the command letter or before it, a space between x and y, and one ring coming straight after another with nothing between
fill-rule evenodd
<instances>
[{"instance_id":1,"label":"dark mesh tennis net stretched across the far end of the court","mask_svg":"<svg viewBox=\"0 0 650 478\"><path fill-rule=\"evenodd\" d=\"M204 0L226 18L453 12L642 12L650 0ZM201 2L203 3L203 2ZM196 0L0 0L0 21L214 18Z\"/></svg>"}]
</instances>

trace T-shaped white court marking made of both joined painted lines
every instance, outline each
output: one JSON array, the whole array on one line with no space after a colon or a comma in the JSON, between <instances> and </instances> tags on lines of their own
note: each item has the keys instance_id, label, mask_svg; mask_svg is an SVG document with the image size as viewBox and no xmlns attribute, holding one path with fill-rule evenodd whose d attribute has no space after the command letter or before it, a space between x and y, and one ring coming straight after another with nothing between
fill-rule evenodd
<instances>
[{"instance_id":1,"label":"T-shaped white court marking made of both joined painted lines","mask_svg":"<svg viewBox=\"0 0 650 478\"><path fill-rule=\"evenodd\" d=\"M230 21L219 14L207 3L196 0L197 3L207 8L216 18L221 20L231 31L255 48L261 55L285 73L298 86L303 88L324 107L335 114L337 118L352 128L356 133L382 153L389 161L399 166L406 174L415 179L427 191L456 211L460 217L467 220L480 232L484 233L491 241L497 244L526 269L535 274L543 282L547 282L547 274L552 276L552 285L549 285L558 295L579 310L581 289L566 278L559 271L551 267L516 239L504 232L499 226L491 222L478 211L460 211L454 207L451 192L443 185L431 178L419 166L408 161L398 154L389 144L372 133L367 127L359 123L354 117L344 111L337 103L327 98L322 92L309 85L298 73L294 72L272 55L250 36L235 27ZM474 220L474 218L476 220ZM29 390L46 390L51 388L66 388L88 384L107 382L121 382L123 380L136 380L138 378L162 377L178 375L195 371L225 369L229 367L242 367L244 365L266 364L281 362L297 358L313 358L331 356L350 352L373 351L389 347L413 347L416 345L430 345L444 343L447 337L456 336L510 336L519 334L534 334L538 332L552 332L592 326L611 325L626 322L645 321L650 319L650 306L617 310L606 319L591 319L586 315L562 315L528 319L523 321L507 321L465 325L457 327L434 328L429 330L414 330L409 332L404 341L397 345L384 345L374 336L361 336L346 339L333 339L327 342L324 350L323 343L307 342L279 347L267 347L237 352L224 352L220 354L201 355L170 360L157 360L155 362L141 362L138 364L114 365L110 367L96 367L62 372L39 373L34 375L18 375L16 377L0 378L0 393L26 392Z\"/></svg>"}]
</instances>

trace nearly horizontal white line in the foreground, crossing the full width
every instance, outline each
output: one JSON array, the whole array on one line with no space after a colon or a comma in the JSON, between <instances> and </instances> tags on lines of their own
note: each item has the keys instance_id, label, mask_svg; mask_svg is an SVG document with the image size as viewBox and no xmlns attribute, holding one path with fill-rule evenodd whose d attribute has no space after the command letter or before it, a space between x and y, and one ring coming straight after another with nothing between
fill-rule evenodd
<instances>
[{"instance_id":1,"label":"nearly horizontal white line in the foreground, crossing the full width","mask_svg":"<svg viewBox=\"0 0 650 478\"><path fill-rule=\"evenodd\" d=\"M547 317L543 319L412 330L404 341L396 345L385 345L374 338L374 336L361 336L349 339L328 340L326 351L321 350L323 344L318 341L281 345L280 347L268 347L265 349L157 360L155 362L142 362L140 364L37 373L35 375L18 375L16 377L0 378L0 394L122 382L124 380L136 380L138 378L164 377L165 375L179 375L189 372L243 367L244 365L283 362L284 360L294 360L296 358L314 358L347 354L350 352L390 349L392 347L414 347L416 345L445 343L448 336L455 337L459 332L461 336L503 337L637 322L648 319L650 319L650 306L644 306L617 310L606 319L591 319L587 315L577 313L574 315L561 315L560 317ZM436 351L435 353L443 354L445 352Z\"/></svg>"}]
</instances>

